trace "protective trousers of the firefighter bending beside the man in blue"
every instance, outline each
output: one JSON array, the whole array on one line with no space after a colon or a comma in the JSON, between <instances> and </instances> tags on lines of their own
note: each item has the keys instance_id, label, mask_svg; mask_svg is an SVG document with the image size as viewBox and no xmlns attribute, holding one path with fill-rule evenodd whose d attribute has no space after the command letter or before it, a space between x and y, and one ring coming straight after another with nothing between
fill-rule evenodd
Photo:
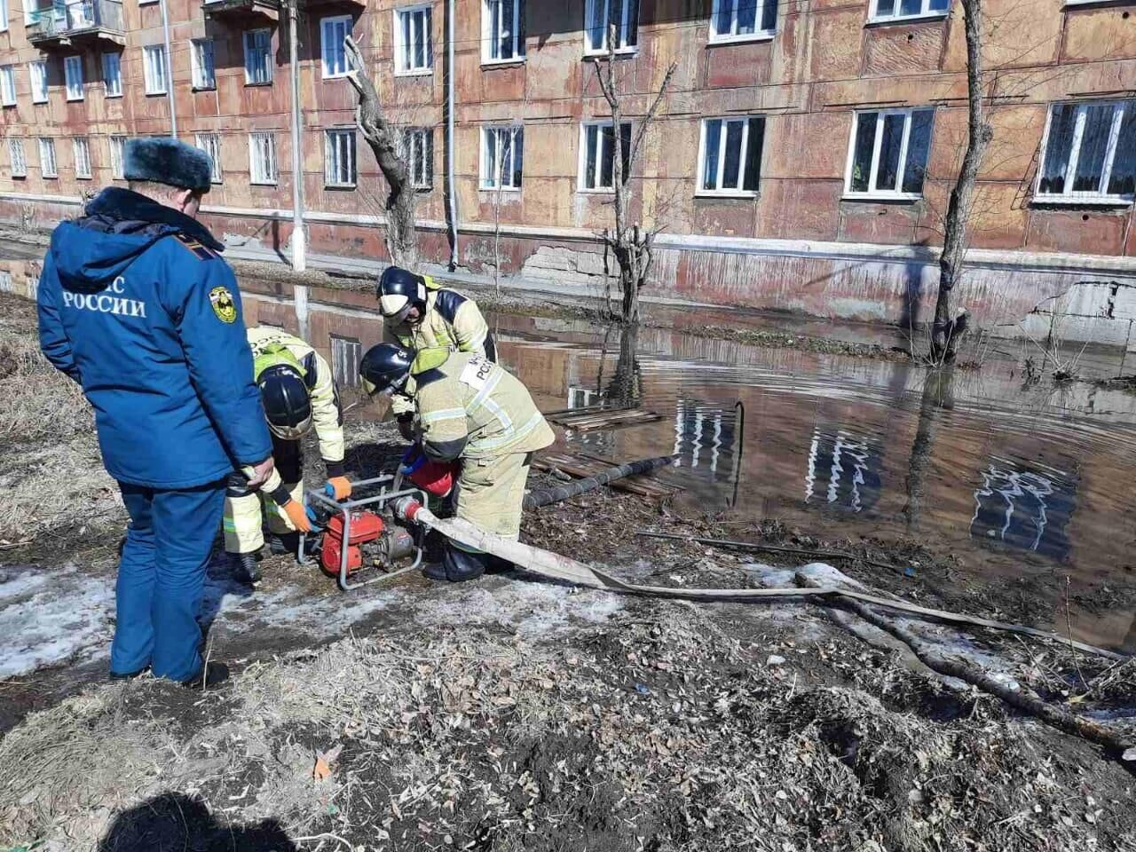
<instances>
[{"instance_id":1,"label":"protective trousers of the firefighter bending beside the man in blue","mask_svg":"<svg viewBox=\"0 0 1136 852\"><path fill-rule=\"evenodd\" d=\"M284 487L293 500L303 502L303 453L299 441L282 441L273 437L273 458ZM267 494L249 487L244 474L236 471L228 477L225 487L226 553L254 553L265 546L264 523L275 535L294 533L295 527L276 502ZM261 504L264 507L261 508Z\"/></svg>"}]
</instances>

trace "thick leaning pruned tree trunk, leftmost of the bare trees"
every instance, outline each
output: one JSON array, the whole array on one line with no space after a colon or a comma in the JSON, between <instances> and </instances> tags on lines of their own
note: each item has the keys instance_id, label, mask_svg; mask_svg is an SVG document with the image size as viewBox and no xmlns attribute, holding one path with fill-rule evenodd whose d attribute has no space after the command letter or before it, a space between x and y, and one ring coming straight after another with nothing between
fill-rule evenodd
<instances>
[{"instance_id":1,"label":"thick leaning pruned tree trunk, leftmost of the bare trees","mask_svg":"<svg viewBox=\"0 0 1136 852\"><path fill-rule=\"evenodd\" d=\"M378 161L390 190L383 202L386 218L386 249L391 262L414 268L418 262L418 231L415 226L415 186L410 166L400 144L400 130L391 124L374 81L367 75L362 53L354 39L343 43L348 56L348 80L359 95L356 124Z\"/></svg>"}]
</instances>

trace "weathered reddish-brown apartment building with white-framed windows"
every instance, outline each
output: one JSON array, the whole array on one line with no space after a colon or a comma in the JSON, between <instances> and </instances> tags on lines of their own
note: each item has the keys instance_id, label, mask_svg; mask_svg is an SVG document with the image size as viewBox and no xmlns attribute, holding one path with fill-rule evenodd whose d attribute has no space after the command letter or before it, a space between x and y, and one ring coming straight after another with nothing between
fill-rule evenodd
<instances>
[{"instance_id":1,"label":"weathered reddish-brown apartment building with white-framed windows","mask_svg":"<svg viewBox=\"0 0 1136 852\"><path fill-rule=\"evenodd\" d=\"M25 0L34 2L34 0ZM120 181L128 135L216 164L206 218L287 251L291 89L278 0L0 0L0 218L47 227ZM1136 319L1131 3L986 0L994 141L962 301L989 326L1067 291L1070 336ZM632 175L658 227L652 293L908 323L926 318L966 137L959 0L303 0L302 183L310 251L381 259L384 184L354 130L342 42L361 45L418 187L428 261L599 285L615 128L609 33L635 132L675 73ZM604 25L611 22L612 26ZM167 50L168 43L168 50ZM1134 295L1129 298L1128 293ZM1105 321L1106 320L1106 321ZM1084 326L1084 327L1081 327ZM1126 336L1127 335L1127 336Z\"/></svg>"}]
</instances>

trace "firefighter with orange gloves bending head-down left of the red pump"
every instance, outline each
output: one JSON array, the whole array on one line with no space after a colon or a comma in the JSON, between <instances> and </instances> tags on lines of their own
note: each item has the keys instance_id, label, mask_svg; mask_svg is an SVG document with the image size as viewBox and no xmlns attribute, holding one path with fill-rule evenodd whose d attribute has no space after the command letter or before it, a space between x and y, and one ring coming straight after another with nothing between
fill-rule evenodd
<instances>
[{"instance_id":1,"label":"firefighter with orange gloves bending head-down left of the red pump","mask_svg":"<svg viewBox=\"0 0 1136 852\"><path fill-rule=\"evenodd\" d=\"M275 475L260 486L273 534L273 550L295 553L299 534L310 533L303 506L301 438L316 427L327 490L336 500L351 495L343 475L343 415L332 368L310 345L279 328L258 326L248 332L252 369L273 438ZM225 552L249 582L260 578L257 565L265 544L261 496L248 478L234 471L225 491Z\"/></svg>"}]
</instances>

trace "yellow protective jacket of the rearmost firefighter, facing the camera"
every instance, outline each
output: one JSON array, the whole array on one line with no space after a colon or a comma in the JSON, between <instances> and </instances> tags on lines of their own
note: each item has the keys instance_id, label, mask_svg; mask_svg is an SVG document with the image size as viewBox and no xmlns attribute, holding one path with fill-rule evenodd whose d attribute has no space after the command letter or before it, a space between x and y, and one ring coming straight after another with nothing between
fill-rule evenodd
<instances>
[{"instance_id":1,"label":"yellow protective jacket of the rearmost firefighter, facing the camera","mask_svg":"<svg viewBox=\"0 0 1136 852\"><path fill-rule=\"evenodd\" d=\"M426 279L426 314L418 323L383 323L383 342L398 343L412 349L419 359L425 357L435 360L437 350L450 352L473 352L496 360L490 327L482 316L477 302L467 299L456 290L441 286L428 275ZM432 356L434 358L432 359ZM433 366L433 365L431 365ZM411 373L421 371L416 359ZM411 376L406 392L414 396L415 379ZM410 400L395 396L391 402L394 415L407 415L414 411Z\"/></svg>"}]
</instances>

